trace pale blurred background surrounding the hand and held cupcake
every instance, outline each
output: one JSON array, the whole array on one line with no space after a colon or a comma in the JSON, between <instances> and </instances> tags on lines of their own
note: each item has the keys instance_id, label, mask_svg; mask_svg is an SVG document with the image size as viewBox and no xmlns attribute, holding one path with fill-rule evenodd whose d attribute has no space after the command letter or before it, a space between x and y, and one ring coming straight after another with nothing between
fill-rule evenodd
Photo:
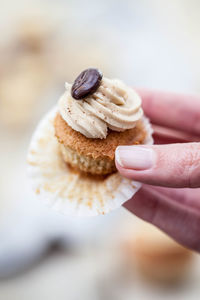
<instances>
[{"instance_id":1,"label":"pale blurred background surrounding the hand and held cupcake","mask_svg":"<svg viewBox=\"0 0 200 300\"><path fill-rule=\"evenodd\" d=\"M38 203L26 153L83 68L200 91L197 0L0 0L0 299L197 299L200 258L121 208L76 219Z\"/></svg>"}]
</instances>

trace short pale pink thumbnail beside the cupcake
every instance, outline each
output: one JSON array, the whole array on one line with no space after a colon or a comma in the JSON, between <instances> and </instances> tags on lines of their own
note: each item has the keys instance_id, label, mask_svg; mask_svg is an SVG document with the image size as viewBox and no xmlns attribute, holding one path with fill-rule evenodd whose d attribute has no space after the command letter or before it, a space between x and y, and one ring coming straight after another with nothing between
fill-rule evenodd
<instances>
[{"instance_id":1,"label":"short pale pink thumbnail beside the cupcake","mask_svg":"<svg viewBox=\"0 0 200 300\"><path fill-rule=\"evenodd\" d=\"M115 158L125 169L147 170L155 163L155 152L142 146L119 146L115 151Z\"/></svg>"}]
</instances>

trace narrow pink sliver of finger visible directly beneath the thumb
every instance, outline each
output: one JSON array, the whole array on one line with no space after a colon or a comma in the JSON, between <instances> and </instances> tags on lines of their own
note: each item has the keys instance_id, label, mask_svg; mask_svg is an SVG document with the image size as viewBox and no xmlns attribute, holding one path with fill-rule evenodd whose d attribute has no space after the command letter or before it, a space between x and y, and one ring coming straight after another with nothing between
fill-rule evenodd
<instances>
[{"instance_id":1,"label":"narrow pink sliver of finger visible directly beneath the thumb","mask_svg":"<svg viewBox=\"0 0 200 300\"><path fill-rule=\"evenodd\" d=\"M200 189L176 189L159 186L143 185L146 190L159 192L186 207L193 207L200 211Z\"/></svg>"}]
</instances>

